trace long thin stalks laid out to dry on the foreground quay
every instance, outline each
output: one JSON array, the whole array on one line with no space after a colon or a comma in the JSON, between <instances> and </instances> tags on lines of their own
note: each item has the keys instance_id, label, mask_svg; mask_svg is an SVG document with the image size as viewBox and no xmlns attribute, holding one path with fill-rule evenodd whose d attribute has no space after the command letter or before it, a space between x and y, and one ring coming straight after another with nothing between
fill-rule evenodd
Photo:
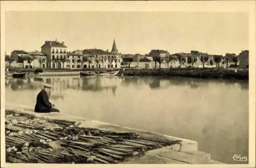
<instances>
[{"instance_id":1,"label":"long thin stalks laid out to dry on the foreground quay","mask_svg":"<svg viewBox=\"0 0 256 168\"><path fill-rule=\"evenodd\" d=\"M148 150L180 143L82 128L78 122L8 110L5 140L6 161L12 163L119 163Z\"/></svg>"}]
</instances>

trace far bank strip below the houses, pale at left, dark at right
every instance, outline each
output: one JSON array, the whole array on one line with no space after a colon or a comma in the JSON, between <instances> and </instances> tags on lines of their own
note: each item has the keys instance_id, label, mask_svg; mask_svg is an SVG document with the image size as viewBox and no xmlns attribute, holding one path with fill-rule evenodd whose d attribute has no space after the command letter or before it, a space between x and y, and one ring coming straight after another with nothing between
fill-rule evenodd
<instances>
[{"instance_id":1,"label":"far bank strip below the houses, pale at left, dark at right","mask_svg":"<svg viewBox=\"0 0 256 168\"><path fill-rule=\"evenodd\" d=\"M79 76L80 71L94 71L101 69L45 69L43 73L31 76ZM111 71L110 69L103 69ZM248 69L221 69L221 68L172 68L172 69L114 69L120 70L117 76L152 76L152 77L177 77L177 78L198 78L198 79L226 79L226 80L247 80L249 79ZM6 75L11 76L11 73Z\"/></svg>"}]
</instances>

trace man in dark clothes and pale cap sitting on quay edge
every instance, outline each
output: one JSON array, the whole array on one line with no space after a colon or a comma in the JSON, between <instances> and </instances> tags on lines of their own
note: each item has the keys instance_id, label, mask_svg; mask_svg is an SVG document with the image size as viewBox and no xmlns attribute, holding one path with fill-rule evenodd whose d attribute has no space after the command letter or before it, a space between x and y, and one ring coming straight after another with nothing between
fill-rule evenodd
<instances>
[{"instance_id":1,"label":"man in dark clothes and pale cap sitting on quay edge","mask_svg":"<svg viewBox=\"0 0 256 168\"><path fill-rule=\"evenodd\" d=\"M58 109L53 108L54 105L49 102L48 93L52 86L50 84L44 84L44 88L37 94L35 112L59 112Z\"/></svg>"}]
</instances>

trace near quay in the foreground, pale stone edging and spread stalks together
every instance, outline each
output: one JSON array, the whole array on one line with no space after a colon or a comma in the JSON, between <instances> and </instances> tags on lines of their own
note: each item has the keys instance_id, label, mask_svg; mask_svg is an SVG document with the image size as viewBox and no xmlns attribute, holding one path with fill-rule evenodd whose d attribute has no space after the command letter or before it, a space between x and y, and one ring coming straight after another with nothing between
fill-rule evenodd
<instances>
[{"instance_id":1,"label":"near quay in the foreground, pale stone edging and spread stalks together","mask_svg":"<svg viewBox=\"0 0 256 168\"><path fill-rule=\"evenodd\" d=\"M188 139L8 103L6 114L7 162L222 164Z\"/></svg>"}]
</instances>

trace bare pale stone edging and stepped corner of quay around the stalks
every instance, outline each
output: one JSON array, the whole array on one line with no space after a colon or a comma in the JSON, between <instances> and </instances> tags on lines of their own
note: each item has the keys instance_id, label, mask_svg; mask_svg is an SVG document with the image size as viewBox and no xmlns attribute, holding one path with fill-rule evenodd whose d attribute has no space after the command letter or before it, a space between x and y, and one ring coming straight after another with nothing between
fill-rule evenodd
<instances>
[{"instance_id":1,"label":"bare pale stone edging and stepped corner of quay around the stalks","mask_svg":"<svg viewBox=\"0 0 256 168\"><path fill-rule=\"evenodd\" d=\"M178 143L174 143L173 145L163 146L161 148L150 149L143 152L142 155L137 157L130 157L126 158L125 160L120 161L119 163L126 163L126 164L136 164L136 163L169 163L169 164L224 164L215 160L210 159L210 154L198 151L198 144L196 141L189 140L189 139L182 139L178 137L172 137L167 135L162 135L158 133L132 129L128 127L122 127L118 125L112 125L108 123L102 123L98 121L87 121L85 118L76 117L73 115L66 115L59 113L49 113L49 114L40 114L33 112L33 109L29 107L16 105L12 103L6 104L6 110L13 110L18 113L26 113L26 114L33 114L36 117L39 117L44 120L48 119L64 119L67 121L66 118L69 118L67 122L79 122L81 128L90 128L90 129L97 129L99 131L111 131L116 133L135 133L142 137L155 137L160 139L166 139L170 141L180 141L180 145ZM15 124L14 124L15 125ZM36 129L36 128L33 128ZM94 135L96 136L96 135ZM35 134L34 134L35 137ZM92 136L93 137L93 136ZM125 138L123 139L125 141ZM136 139L134 139L136 140ZM61 140L57 140L54 142L48 142L46 145L52 145L53 143L59 143ZM67 140L65 140L67 141ZM74 140L73 140L74 141ZM129 141L129 139L128 139ZM131 141L131 140L130 140ZM132 144L132 143L131 143ZM54 145L56 147L56 144ZM53 148L55 150L55 148ZM57 150L57 148L56 148ZM161 156L159 158L159 156ZM152 162L154 160L154 162Z\"/></svg>"}]
</instances>

